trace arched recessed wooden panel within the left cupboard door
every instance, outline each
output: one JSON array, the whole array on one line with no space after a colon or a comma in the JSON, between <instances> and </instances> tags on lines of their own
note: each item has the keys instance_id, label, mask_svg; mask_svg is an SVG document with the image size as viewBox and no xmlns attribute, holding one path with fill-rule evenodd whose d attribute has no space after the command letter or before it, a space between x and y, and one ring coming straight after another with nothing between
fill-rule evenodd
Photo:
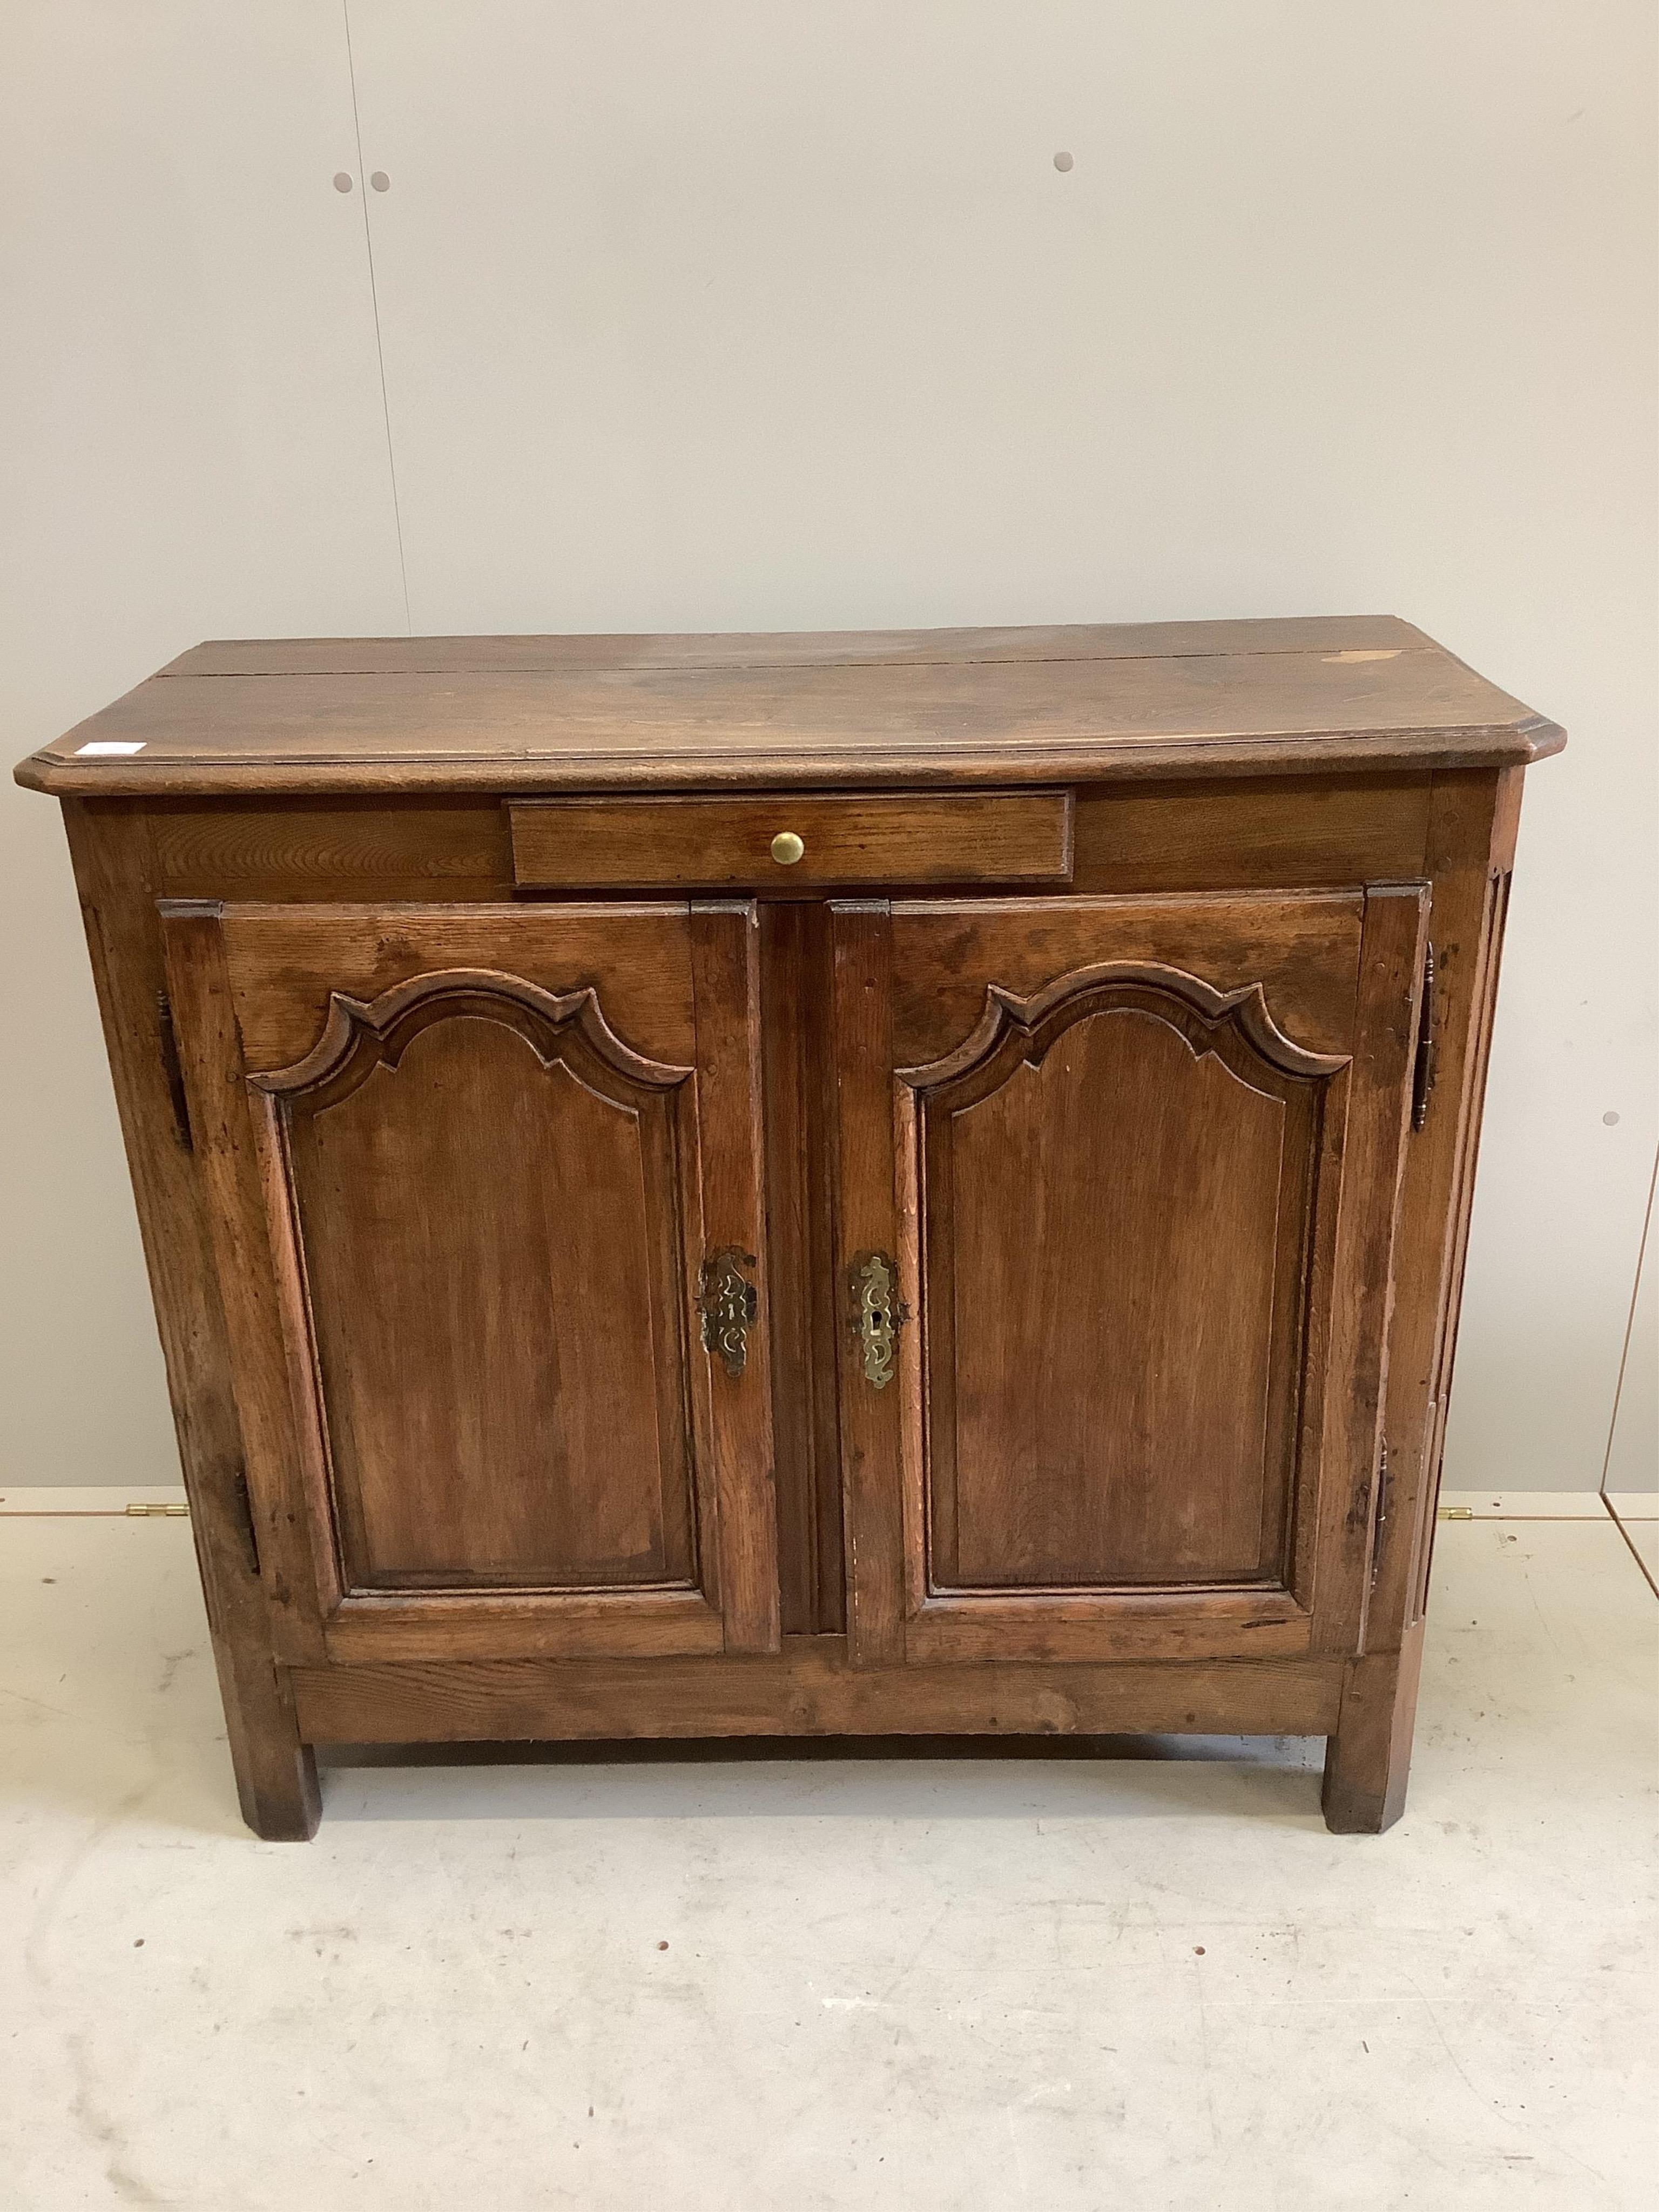
<instances>
[{"instance_id":1,"label":"arched recessed wooden panel within the left cupboard door","mask_svg":"<svg viewBox=\"0 0 1659 2212\"><path fill-rule=\"evenodd\" d=\"M347 1590L695 1582L688 1073L453 969L252 1077Z\"/></svg>"}]
</instances>

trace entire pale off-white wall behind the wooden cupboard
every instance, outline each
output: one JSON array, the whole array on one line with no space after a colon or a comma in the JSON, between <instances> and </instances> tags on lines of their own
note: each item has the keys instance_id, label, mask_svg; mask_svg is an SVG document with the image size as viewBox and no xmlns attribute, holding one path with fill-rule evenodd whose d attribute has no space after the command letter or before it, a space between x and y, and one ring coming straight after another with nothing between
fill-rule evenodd
<instances>
[{"instance_id":1,"label":"entire pale off-white wall behind the wooden cupboard","mask_svg":"<svg viewBox=\"0 0 1659 2212\"><path fill-rule=\"evenodd\" d=\"M1394 611L1566 721L1449 1480L1595 1489L1659 1135L1648 0L349 0L349 58L321 0L40 0L9 38L13 752L197 637L405 619ZM161 1480L66 863L44 801L0 818L4 1475Z\"/></svg>"}]
</instances>

